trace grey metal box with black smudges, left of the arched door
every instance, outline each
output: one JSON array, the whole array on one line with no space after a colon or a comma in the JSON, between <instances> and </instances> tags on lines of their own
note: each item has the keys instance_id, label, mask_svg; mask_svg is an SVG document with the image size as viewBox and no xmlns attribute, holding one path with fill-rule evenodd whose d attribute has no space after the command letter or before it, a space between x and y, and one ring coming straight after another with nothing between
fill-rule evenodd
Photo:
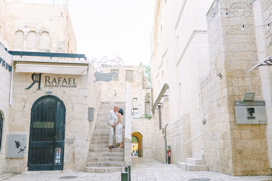
<instances>
[{"instance_id":1,"label":"grey metal box with black smudges, left of the arched door","mask_svg":"<svg viewBox=\"0 0 272 181\"><path fill-rule=\"evenodd\" d=\"M26 152L26 138L26 135L8 135L6 158L24 158Z\"/></svg>"}]
</instances>

